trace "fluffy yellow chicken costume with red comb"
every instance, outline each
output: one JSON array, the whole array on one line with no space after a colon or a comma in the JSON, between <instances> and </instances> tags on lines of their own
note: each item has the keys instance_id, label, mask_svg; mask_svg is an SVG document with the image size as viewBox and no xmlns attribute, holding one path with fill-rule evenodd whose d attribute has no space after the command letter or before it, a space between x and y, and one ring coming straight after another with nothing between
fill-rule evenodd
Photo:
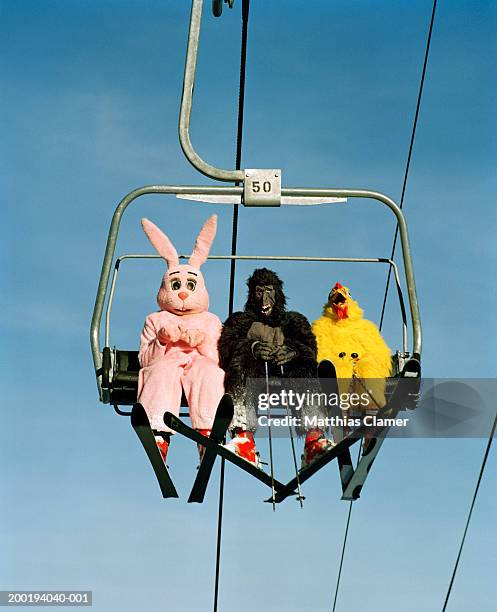
<instances>
[{"instance_id":1,"label":"fluffy yellow chicken costume with red comb","mask_svg":"<svg viewBox=\"0 0 497 612\"><path fill-rule=\"evenodd\" d=\"M386 403L385 378L391 372L391 352L376 325L362 315L349 289L336 283L312 331L318 362L327 359L333 363L340 393L361 394L367 389L370 398L362 408L379 408Z\"/></svg>"}]
</instances>

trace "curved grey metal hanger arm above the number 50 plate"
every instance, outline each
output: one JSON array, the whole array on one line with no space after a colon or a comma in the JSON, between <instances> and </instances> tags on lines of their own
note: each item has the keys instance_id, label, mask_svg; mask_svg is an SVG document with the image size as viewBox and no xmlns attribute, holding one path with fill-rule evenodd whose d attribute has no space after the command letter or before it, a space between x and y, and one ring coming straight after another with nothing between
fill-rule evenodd
<instances>
[{"instance_id":1,"label":"curved grey metal hanger arm above the number 50 plate","mask_svg":"<svg viewBox=\"0 0 497 612\"><path fill-rule=\"evenodd\" d=\"M186 52L185 74L183 77L183 93L179 114L179 141L188 161L202 174L220 181L242 182L245 178L243 170L223 170L205 162L193 148L190 140L190 118L192 114L193 87L197 68L198 44L200 39L200 22L202 21L203 0L192 0L190 15L190 30L188 32L188 48Z\"/></svg>"}]
</instances>

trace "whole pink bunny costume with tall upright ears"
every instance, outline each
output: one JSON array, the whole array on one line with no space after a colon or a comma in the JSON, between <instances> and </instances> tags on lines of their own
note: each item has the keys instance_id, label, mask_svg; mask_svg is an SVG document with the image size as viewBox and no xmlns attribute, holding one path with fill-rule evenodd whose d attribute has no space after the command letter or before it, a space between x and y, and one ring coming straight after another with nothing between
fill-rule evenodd
<instances>
[{"instance_id":1,"label":"whole pink bunny costume with tall upright ears","mask_svg":"<svg viewBox=\"0 0 497 612\"><path fill-rule=\"evenodd\" d=\"M138 401L153 429L171 431L164 425L164 412L178 415L182 391L193 427L210 429L224 393L217 350L222 326L219 318L208 312L209 295L200 272L214 241L216 224L216 215L205 222L188 264L180 265L168 237L142 219L148 239L168 266L157 294L160 311L146 318L140 341Z\"/></svg>"}]
</instances>

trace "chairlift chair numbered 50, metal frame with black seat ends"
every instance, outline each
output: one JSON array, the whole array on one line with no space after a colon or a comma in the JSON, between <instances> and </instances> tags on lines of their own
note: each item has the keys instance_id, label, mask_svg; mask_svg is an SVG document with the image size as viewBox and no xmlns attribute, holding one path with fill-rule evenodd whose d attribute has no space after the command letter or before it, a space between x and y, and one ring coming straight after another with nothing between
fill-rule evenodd
<instances>
[{"instance_id":1,"label":"chairlift chair numbered 50, metal frame with black seat ends","mask_svg":"<svg viewBox=\"0 0 497 612\"><path fill-rule=\"evenodd\" d=\"M228 2L231 6L232 2ZM180 198L201 200L207 203L225 203L231 205L243 204L244 206L284 206L284 205L321 205L328 203L343 202L344 200L353 200L355 198L366 198L376 203L387 206L395 215L397 226L399 229L400 242L402 248L402 258L404 264L405 281L407 285L408 302L410 308L410 318L412 327L412 350L407 350L407 321L402 291L400 290L400 281L397 267L390 259L341 259L341 258L326 258L326 257L265 257L265 256L218 256L218 259L252 259L252 260L278 260L287 259L294 261L363 261L388 264L394 271L395 282L397 285L398 296L400 300L400 308L402 313L403 325L403 341L402 349L397 351L393 357L394 377L418 379L420 377L420 358L421 358L421 320L419 315L419 307L416 296L416 286L414 281L414 271L411 259L411 249L407 225L402 213L402 210L388 196L375 191L364 189L329 189L329 188L283 188L282 175L280 169L235 169L224 170L217 168L205 162L195 151L190 140L190 117L192 109L192 98L194 91L195 71L198 55L198 44L200 37L200 24L202 17L203 0L192 0L192 11L190 16L190 30L188 35L188 48L185 62L185 72L183 81L183 94L181 99L180 119L179 119L179 139L184 154L190 163L202 174L212 179L235 183L235 186L186 186L186 185L151 185L141 187L130 192L118 204L112 217L107 246L105 249L100 281L97 289L95 307L90 329L90 344L93 356L93 363L97 379L97 387L100 400L104 403L112 404L119 414L130 414L129 412L121 411L119 406L129 406L135 403L138 383L138 353L132 350L122 350L111 348L110 343L110 312L114 295L115 283L119 265L124 259L132 257L150 257L144 255L123 255L117 259L114 265L114 274L111 279L113 266L113 258L115 255L115 246L122 216L127 207L136 201L138 198L148 194L169 194L176 195ZM214 0L214 14L221 11L220 0ZM214 257L210 257L214 259ZM100 328L104 313L104 306L107 300L106 321L105 321L105 342L104 347L101 347ZM394 380L394 379L392 379ZM409 393L409 396L415 398L414 392ZM405 404L405 398L401 402ZM400 406L400 403L399 403ZM344 441L345 442L345 441ZM379 445L376 445L376 451ZM347 447L348 452L348 447ZM360 487L371 467L371 462L374 459L375 453L370 452L371 461L365 462L361 460L361 464L356 469L356 475L360 472L363 465L363 476L359 480L350 480L349 476L353 473L352 466L345 466L344 473L347 477L342 477L342 487L344 489L343 499L356 499ZM243 461L243 460L242 460ZM310 470L312 471L312 470ZM309 471L309 473L310 473ZM341 469L341 476L342 474ZM298 481L298 475L296 475ZM348 484L347 484L348 478ZM362 480L361 480L362 478ZM273 480L273 475L271 474ZM266 483L267 484L267 483ZM289 483L290 484L290 483ZM347 488L348 487L348 488ZM352 487L352 489L351 489ZM290 491L291 487L287 487ZM284 498L291 493L281 495ZM273 487L273 505L275 503L274 487Z\"/></svg>"}]
</instances>

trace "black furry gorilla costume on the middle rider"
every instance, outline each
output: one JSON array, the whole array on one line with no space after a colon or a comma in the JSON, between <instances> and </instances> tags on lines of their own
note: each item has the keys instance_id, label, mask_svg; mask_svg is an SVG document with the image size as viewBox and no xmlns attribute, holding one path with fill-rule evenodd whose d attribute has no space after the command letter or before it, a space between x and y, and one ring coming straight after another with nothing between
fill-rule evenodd
<instances>
[{"instance_id":1,"label":"black furry gorilla costume on the middle rider","mask_svg":"<svg viewBox=\"0 0 497 612\"><path fill-rule=\"evenodd\" d=\"M255 270L247 285L245 309L233 313L224 324L219 355L226 372L226 392L234 401L231 428L254 432L257 414L256 407L246 401L247 378L265 378L267 363L269 376L316 379L317 345L308 320L286 310L283 283L275 272ZM309 387L314 387L311 381ZM326 416L322 410L304 406L299 416ZM297 432L303 435L305 428Z\"/></svg>"}]
</instances>

